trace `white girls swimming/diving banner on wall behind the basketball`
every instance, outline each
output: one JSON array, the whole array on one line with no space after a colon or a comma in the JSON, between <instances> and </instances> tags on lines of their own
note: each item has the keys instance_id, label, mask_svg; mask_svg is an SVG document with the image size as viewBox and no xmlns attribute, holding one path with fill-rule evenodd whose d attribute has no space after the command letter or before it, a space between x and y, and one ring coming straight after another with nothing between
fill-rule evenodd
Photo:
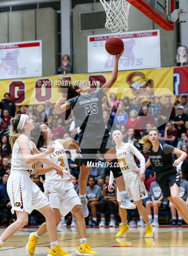
<instances>
[{"instance_id":1,"label":"white girls swimming/diving banner on wall behind the basketball","mask_svg":"<svg viewBox=\"0 0 188 256\"><path fill-rule=\"evenodd\" d=\"M88 36L88 72L112 71L115 56L105 49L105 42L111 36L124 41L119 70L161 67L160 31L147 30Z\"/></svg>"}]
</instances>

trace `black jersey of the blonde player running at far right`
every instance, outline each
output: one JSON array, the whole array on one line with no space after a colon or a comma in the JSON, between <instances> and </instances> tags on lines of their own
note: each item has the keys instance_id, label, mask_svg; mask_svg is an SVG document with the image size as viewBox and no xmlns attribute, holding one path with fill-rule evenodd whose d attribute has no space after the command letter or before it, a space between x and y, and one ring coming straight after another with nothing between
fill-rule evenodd
<instances>
[{"instance_id":1,"label":"black jersey of the blonde player running at far right","mask_svg":"<svg viewBox=\"0 0 188 256\"><path fill-rule=\"evenodd\" d=\"M172 152L174 147L168 144L159 144L158 151L154 152L152 146L148 148L151 166L156 172L176 170L172 166Z\"/></svg>"}]
</instances>

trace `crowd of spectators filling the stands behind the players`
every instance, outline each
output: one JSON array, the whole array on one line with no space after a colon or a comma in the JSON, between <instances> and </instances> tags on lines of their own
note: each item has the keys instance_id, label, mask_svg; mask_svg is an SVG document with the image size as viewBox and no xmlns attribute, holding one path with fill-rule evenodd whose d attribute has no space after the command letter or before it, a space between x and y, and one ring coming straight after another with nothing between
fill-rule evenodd
<instances>
[{"instance_id":1,"label":"crowd of spectators filling the stands behind the players","mask_svg":"<svg viewBox=\"0 0 188 256\"><path fill-rule=\"evenodd\" d=\"M63 56L62 66L59 72L69 72L71 67L67 65L68 57ZM171 98L166 96L164 104L160 103L154 95L150 96L148 102L141 103L140 97L129 99L127 96L123 99L117 99L115 94L111 94L108 99L104 96L102 100L103 119L106 128L111 131L120 130L123 135L124 142L133 144L148 160L149 155L147 148L143 148L139 144L139 139L148 134L150 128L154 125L158 127L161 133L161 144L169 144L188 153L188 99L186 95L180 97L180 102L173 105ZM9 93L4 94L4 99L0 101L0 225L9 225L13 221L11 214L11 204L6 192L6 184L10 175L9 156L11 155L11 147L9 144L9 136L7 131L10 127L11 118L17 113L27 113L35 123L35 126L46 123L53 133L53 139L66 139L67 137L77 138L77 130L73 113L66 112L56 114L50 101L46 101L42 111L34 105L22 106L18 108ZM76 150L67 150L68 164L70 172L78 179L80 171L79 152ZM173 160L176 155L173 155ZM137 165L139 162L135 159ZM103 156L98 154L96 162L104 162ZM188 161L188 158L186 159ZM181 170L181 166L178 166ZM109 167L92 167L88 180L86 195L88 198L88 207L90 210L89 225L104 226L109 224L115 226L120 222L116 201L116 184L113 184L113 192L108 191ZM160 208L171 209L171 224L182 225L182 219L177 215L173 205L169 205L167 198L163 198L160 187L155 181L154 171L149 166L145 170L145 187L148 191L148 198L145 200L145 206L148 211L150 221L153 225L158 226L160 216ZM31 179L44 191L43 183L45 176L31 175ZM77 181L74 181L75 189L79 193ZM184 180L181 175L180 196L188 203L188 181ZM6 214L4 215L4 212ZM153 213L153 217L152 217ZM6 216L4 218L4 216ZM138 215L137 215L138 216ZM176 220L177 216L177 220ZM130 214L130 219L131 214ZM72 226L75 225L74 216L62 217L60 225L68 225L72 219ZM36 219L35 222L38 220ZM144 225L143 218L140 216L138 225Z\"/></svg>"}]
</instances>

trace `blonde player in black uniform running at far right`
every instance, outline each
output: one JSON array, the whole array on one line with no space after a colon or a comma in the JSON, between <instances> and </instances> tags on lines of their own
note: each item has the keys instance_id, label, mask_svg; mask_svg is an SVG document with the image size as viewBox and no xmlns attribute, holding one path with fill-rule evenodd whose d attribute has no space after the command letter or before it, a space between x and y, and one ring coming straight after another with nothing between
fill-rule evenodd
<instances>
[{"instance_id":1,"label":"blonde player in black uniform running at far right","mask_svg":"<svg viewBox=\"0 0 188 256\"><path fill-rule=\"evenodd\" d=\"M163 196L173 203L178 210L179 215L188 223L188 206L186 202L179 197L180 177L179 172L176 171L175 166L184 161L187 153L174 148L171 145L160 144L160 134L156 127L152 127L148 135L144 136L140 143L148 148L150 158L145 164L145 168L152 166L156 173L156 181L161 187ZM174 163L172 163L172 154L178 156Z\"/></svg>"}]
</instances>

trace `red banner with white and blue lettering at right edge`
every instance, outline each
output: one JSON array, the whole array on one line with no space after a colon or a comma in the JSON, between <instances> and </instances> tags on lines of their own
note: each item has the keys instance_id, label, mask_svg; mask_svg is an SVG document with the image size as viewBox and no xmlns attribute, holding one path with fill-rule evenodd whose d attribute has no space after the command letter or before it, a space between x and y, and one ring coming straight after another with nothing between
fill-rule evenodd
<instances>
[{"instance_id":1,"label":"red banner with white and blue lettering at right edge","mask_svg":"<svg viewBox=\"0 0 188 256\"><path fill-rule=\"evenodd\" d=\"M188 94L188 66L174 67L174 94Z\"/></svg>"}]
</instances>

